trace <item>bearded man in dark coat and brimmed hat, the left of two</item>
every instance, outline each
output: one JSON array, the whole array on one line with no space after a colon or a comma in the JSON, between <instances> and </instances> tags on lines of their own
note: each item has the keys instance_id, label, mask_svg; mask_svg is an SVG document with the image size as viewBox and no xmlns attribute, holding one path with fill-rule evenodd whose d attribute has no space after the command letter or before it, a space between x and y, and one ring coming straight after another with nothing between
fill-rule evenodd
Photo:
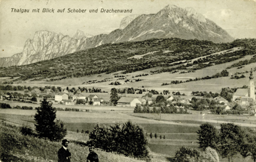
<instances>
[{"instance_id":1,"label":"bearded man in dark coat and brimmed hat, the left of two","mask_svg":"<svg viewBox=\"0 0 256 162\"><path fill-rule=\"evenodd\" d=\"M62 147L58 151L58 162L70 162L71 153L68 151L68 143L67 139L62 140Z\"/></svg>"}]
</instances>

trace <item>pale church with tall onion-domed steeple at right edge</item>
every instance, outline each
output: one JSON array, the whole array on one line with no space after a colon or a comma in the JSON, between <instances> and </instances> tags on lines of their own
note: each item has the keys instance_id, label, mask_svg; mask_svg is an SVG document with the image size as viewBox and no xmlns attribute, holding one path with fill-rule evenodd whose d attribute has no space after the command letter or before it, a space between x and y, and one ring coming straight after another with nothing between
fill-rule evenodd
<instances>
[{"instance_id":1,"label":"pale church with tall onion-domed steeple at right edge","mask_svg":"<svg viewBox=\"0 0 256 162\"><path fill-rule=\"evenodd\" d=\"M241 103L242 105L246 103L255 102L255 86L252 76L252 69L249 77L249 87L248 88L238 88L233 95L233 101ZM243 104L244 103L244 104Z\"/></svg>"}]
</instances>

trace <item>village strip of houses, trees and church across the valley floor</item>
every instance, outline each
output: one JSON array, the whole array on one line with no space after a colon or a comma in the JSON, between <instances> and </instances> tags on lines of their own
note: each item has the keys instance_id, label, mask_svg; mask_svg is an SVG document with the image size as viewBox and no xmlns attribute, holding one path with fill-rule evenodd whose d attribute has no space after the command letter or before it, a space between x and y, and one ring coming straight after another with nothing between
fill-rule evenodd
<instances>
[{"instance_id":1,"label":"village strip of houses, trees and church across the valley floor","mask_svg":"<svg viewBox=\"0 0 256 162\"><path fill-rule=\"evenodd\" d=\"M9 85L8 85L9 86ZM7 86L6 86L7 87ZM6 88L5 87L5 88ZM12 86L9 86L9 88ZM4 89L2 87L2 89ZM254 115L256 112L255 105L255 86L253 82L252 71L249 77L249 84L247 87L237 88L233 93L232 98L228 101L221 96L222 93L208 93L208 92L192 92L191 94L180 94L180 92L172 92L172 95L168 90L160 92L158 95L152 94L155 92L148 89L138 94L139 90L134 94L119 93L116 104L111 104L110 92L98 92L101 90L90 89L88 93L87 88L61 88L61 87L22 87L14 86L15 91L2 91L0 100L8 100L23 103L40 103L43 97L47 97L47 100L53 104L54 107L59 105L76 105L81 106L116 106L116 107L130 107L131 109L136 106L147 106L152 109L159 108L161 105L157 100L158 96L163 96L161 102L165 102L165 108L174 107L177 111L183 110L208 110L209 113L216 114L249 114ZM73 92L74 91L74 92ZM86 91L86 92L85 92ZM97 93L98 92L98 93ZM75 93L75 94L74 94ZM203 95L198 95L198 94ZM164 94L164 95L163 95ZM18 103L17 103L18 104ZM165 111L162 110L162 113ZM168 111L167 111L168 112Z\"/></svg>"}]
</instances>

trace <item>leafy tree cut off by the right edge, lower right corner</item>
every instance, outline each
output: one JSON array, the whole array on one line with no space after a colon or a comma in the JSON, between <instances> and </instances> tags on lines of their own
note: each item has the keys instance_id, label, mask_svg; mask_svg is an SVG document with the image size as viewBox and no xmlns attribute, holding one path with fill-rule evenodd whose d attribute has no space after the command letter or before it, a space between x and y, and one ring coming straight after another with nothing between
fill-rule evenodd
<instances>
[{"instance_id":1,"label":"leafy tree cut off by the right edge, lower right corner","mask_svg":"<svg viewBox=\"0 0 256 162\"><path fill-rule=\"evenodd\" d=\"M245 138L242 143L241 155L245 158L251 156L256 162L256 131L251 128L245 129Z\"/></svg>"}]
</instances>

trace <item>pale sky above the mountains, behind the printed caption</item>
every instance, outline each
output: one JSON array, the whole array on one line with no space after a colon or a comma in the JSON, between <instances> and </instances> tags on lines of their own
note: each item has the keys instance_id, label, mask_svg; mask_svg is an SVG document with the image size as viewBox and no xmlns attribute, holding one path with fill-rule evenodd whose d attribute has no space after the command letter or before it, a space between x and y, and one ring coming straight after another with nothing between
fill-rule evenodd
<instances>
[{"instance_id":1,"label":"pale sky above the mountains, behind the printed caption","mask_svg":"<svg viewBox=\"0 0 256 162\"><path fill-rule=\"evenodd\" d=\"M168 4L193 7L235 39L256 38L256 0L0 0L0 57L23 51L36 31L73 37L77 29L92 35L108 34L132 14L155 14ZM13 8L13 9L12 9ZM54 9L54 13L42 9ZM68 9L86 9L68 13ZM29 9L29 12L14 12ZM32 12L39 9L39 12ZM65 9L58 13L58 9ZM98 9L90 13L90 9ZM132 13L101 13L101 9L132 9ZM13 12L12 12L13 11Z\"/></svg>"}]
</instances>

